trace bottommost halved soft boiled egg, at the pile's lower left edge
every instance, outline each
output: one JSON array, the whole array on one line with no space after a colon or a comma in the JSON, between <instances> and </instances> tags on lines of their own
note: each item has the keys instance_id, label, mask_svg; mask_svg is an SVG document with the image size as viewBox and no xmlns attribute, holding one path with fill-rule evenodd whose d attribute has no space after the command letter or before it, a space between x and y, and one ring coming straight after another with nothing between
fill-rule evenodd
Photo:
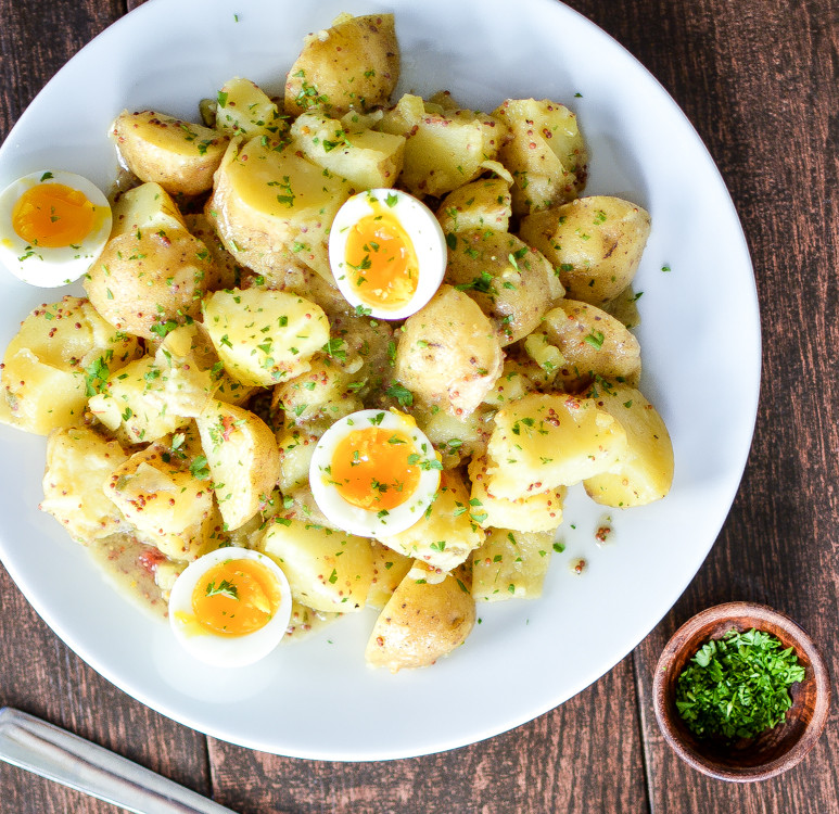
<instances>
[{"instance_id":1,"label":"bottommost halved soft boiled egg, at the pile's lower left edge","mask_svg":"<svg viewBox=\"0 0 839 814\"><path fill-rule=\"evenodd\" d=\"M280 644L291 588L280 567L247 548L218 548L190 563L169 595L169 624L196 659L239 667Z\"/></svg>"}]
</instances>

